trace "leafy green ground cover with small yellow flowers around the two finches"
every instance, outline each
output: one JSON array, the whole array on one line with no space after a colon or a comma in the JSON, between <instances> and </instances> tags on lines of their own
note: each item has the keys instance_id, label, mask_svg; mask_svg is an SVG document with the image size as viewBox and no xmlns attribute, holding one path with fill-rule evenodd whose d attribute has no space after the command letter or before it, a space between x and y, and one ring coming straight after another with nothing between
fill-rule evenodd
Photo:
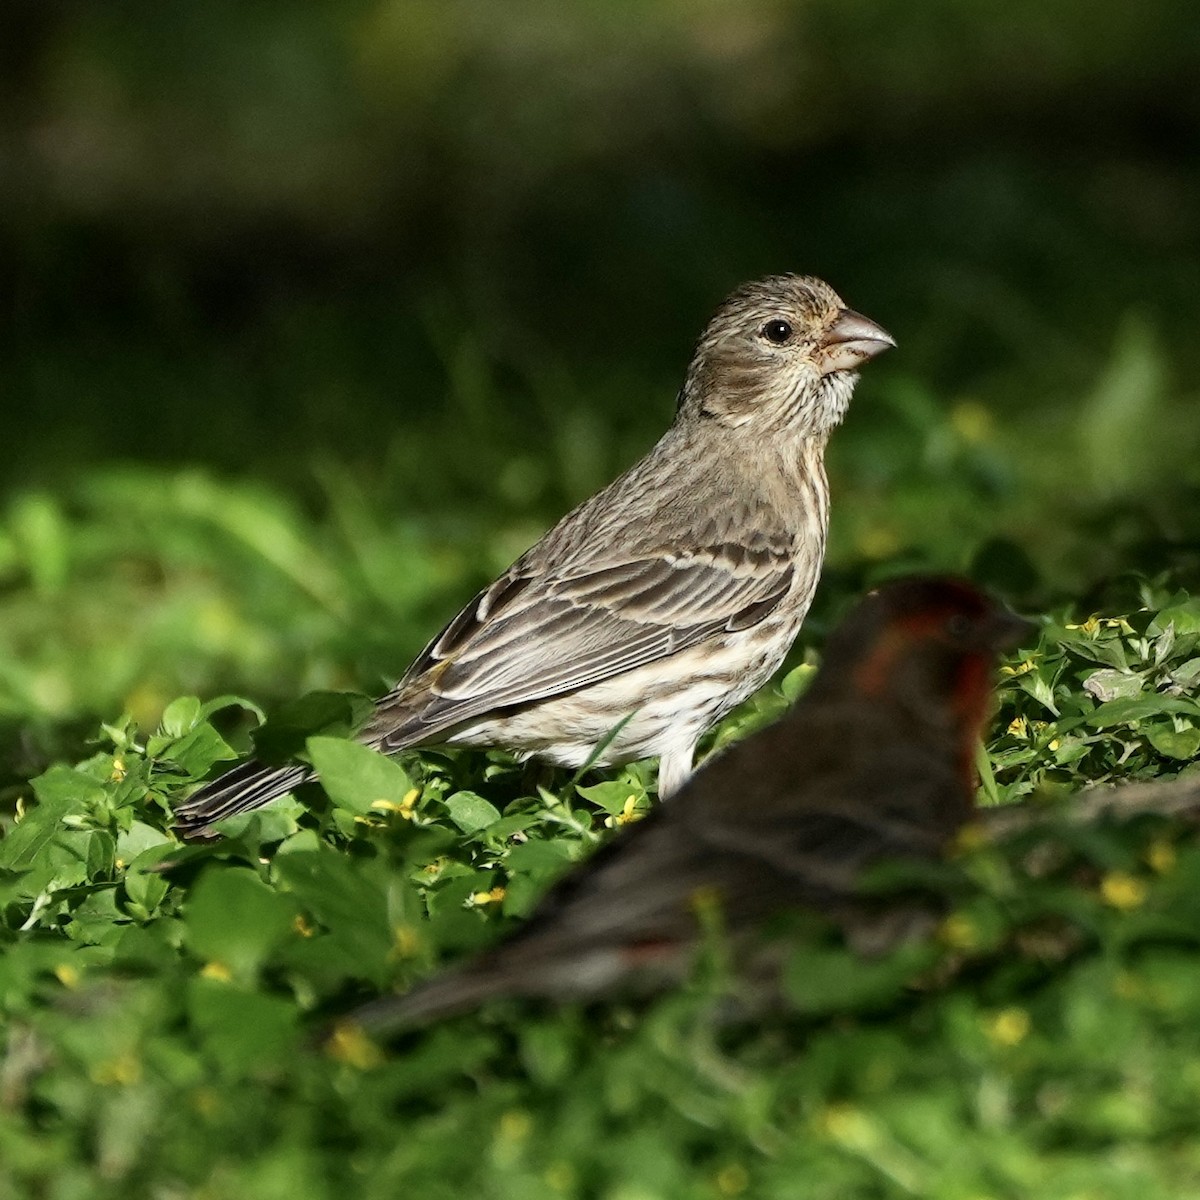
<instances>
[{"instance_id":1,"label":"leafy green ground cover with small yellow flowers around the two finches","mask_svg":"<svg viewBox=\"0 0 1200 1200\"><path fill-rule=\"evenodd\" d=\"M1142 581L1006 668L984 799L1162 776L1200 730L1200 607ZM1069 618L1076 619L1069 619ZM800 667L718 742L803 688ZM307 788L182 846L168 798L236 697L104 728L0 840L0 1184L13 1196L1174 1196L1194 1183L1200 846L1142 818L966 850L937 935L864 961L811 928L788 1010L716 1014L718 954L648 1004L497 1003L380 1048L338 1012L499 936L644 810L503 755L400 762L289 706ZM338 708L338 706L342 706ZM308 793L312 793L311 796ZM1046 853L1046 846L1051 852ZM331 1032L332 1031L332 1032Z\"/></svg>"}]
</instances>

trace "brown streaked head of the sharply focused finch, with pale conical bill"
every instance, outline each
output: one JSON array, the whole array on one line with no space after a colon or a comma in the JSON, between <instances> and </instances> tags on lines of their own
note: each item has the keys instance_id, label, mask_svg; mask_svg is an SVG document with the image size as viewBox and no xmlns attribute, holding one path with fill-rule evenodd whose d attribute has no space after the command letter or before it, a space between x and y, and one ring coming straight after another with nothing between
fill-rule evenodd
<instances>
[{"instance_id":1,"label":"brown streaked head of the sharply focused finch, with pale conical bill","mask_svg":"<svg viewBox=\"0 0 1200 1200\"><path fill-rule=\"evenodd\" d=\"M893 346L810 275L745 283L696 343L679 415L763 433L828 433L846 414L858 366Z\"/></svg>"}]
</instances>

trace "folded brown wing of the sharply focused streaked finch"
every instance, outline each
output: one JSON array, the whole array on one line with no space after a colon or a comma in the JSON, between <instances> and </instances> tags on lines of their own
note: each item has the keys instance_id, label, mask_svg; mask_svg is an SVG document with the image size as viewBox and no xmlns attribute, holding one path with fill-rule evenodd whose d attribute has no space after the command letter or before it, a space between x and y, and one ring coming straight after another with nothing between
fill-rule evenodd
<instances>
[{"instance_id":1,"label":"folded brown wing of the sharply focused streaked finch","mask_svg":"<svg viewBox=\"0 0 1200 1200\"><path fill-rule=\"evenodd\" d=\"M570 574L521 568L425 648L379 702L367 740L401 749L491 709L575 691L750 629L793 578L784 539L610 559Z\"/></svg>"}]
</instances>

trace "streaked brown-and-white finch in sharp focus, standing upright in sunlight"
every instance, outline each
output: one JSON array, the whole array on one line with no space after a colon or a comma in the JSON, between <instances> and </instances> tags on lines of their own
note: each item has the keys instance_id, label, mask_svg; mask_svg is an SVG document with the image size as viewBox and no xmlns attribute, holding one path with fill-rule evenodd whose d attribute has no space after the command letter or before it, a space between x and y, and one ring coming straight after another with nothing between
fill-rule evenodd
<instances>
[{"instance_id":1,"label":"streaked brown-and-white finch in sharp focus, standing upright in sunlight","mask_svg":"<svg viewBox=\"0 0 1200 1200\"><path fill-rule=\"evenodd\" d=\"M566 767L658 755L659 793L676 791L703 732L796 637L824 554L826 443L856 367L894 344L810 276L738 288L661 440L476 595L361 740L505 746ZM312 774L244 763L179 808L180 828L205 834Z\"/></svg>"}]
</instances>

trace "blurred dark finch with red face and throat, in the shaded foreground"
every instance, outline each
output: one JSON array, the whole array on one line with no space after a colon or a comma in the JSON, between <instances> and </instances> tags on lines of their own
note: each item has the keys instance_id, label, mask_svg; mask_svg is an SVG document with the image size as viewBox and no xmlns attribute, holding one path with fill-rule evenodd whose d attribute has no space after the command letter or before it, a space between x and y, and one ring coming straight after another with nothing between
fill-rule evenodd
<instances>
[{"instance_id":1,"label":"blurred dark finch with red face and throat, in the shaded foreground","mask_svg":"<svg viewBox=\"0 0 1200 1200\"><path fill-rule=\"evenodd\" d=\"M887 930L862 874L936 858L972 818L996 654L1027 629L958 580L880 588L830 635L811 689L779 724L563 878L514 937L355 1019L388 1028L502 995L661 986L686 972L706 896L734 952L796 906L881 949L902 930Z\"/></svg>"}]
</instances>

